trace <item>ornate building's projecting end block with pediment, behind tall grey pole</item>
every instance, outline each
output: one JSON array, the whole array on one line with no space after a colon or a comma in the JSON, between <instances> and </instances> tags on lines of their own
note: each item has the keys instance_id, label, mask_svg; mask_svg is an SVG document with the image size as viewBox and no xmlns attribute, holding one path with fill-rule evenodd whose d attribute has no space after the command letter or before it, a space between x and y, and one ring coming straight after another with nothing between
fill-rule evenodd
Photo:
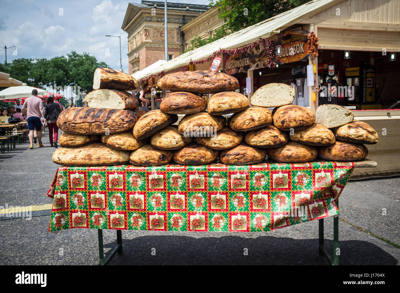
<instances>
[{"instance_id":1,"label":"ornate building's projecting end block with pediment, behind tall grey pole","mask_svg":"<svg viewBox=\"0 0 400 293\"><path fill-rule=\"evenodd\" d=\"M208 9L207 5L167 3L169 59L185 48L180 28ZM122 30L128 33L129 74L165 59L164 2L129 3Z\"/></svg>"}]
</instances>

